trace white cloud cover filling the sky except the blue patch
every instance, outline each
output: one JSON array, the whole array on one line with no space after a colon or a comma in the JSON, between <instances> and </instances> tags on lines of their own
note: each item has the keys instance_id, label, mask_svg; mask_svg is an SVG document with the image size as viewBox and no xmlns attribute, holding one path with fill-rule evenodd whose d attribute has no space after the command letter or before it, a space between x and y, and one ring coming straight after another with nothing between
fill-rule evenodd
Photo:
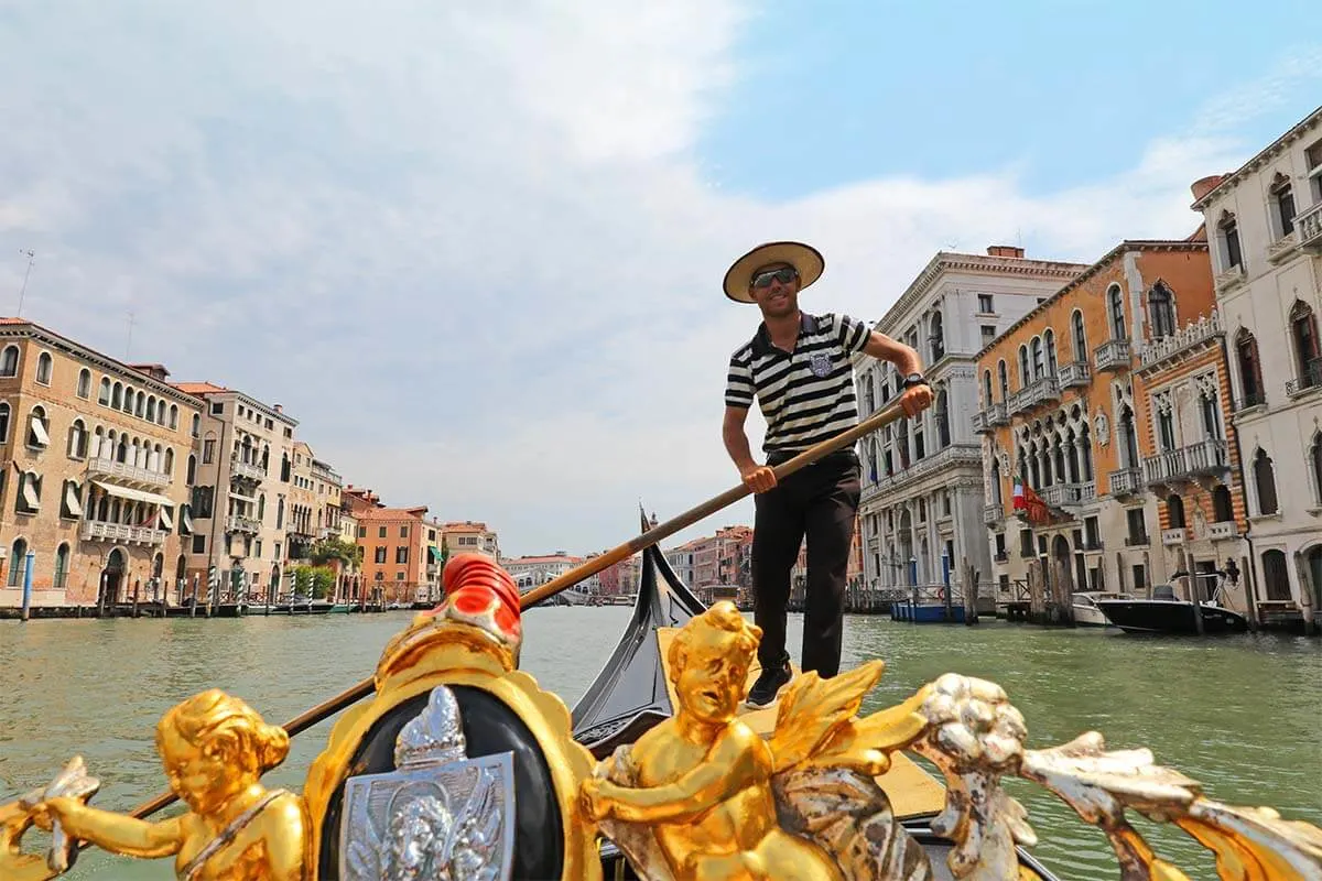
<instances>
[{"instance_id":1,"label":"white cloud cover filling the sky except the blue patch","mask_svg":"<svg viewBox=\"0 0 1322 881\"><path fill-rule=\"evenodd\" d=\"M514 552L611 546L640 497L665 519L734 482L720 392L756 318L719 280L758 240L820 243L805 305L875 320L952 239L1089 260L1186 235L1188 182L1245 155L1212 125L1047 195L974 168L768 203L694 155L738 74L735 0L5 15L25 314L123 355L132 312L134 359L283 403L346 479ZM21 269L0 258L0 291Z\"/></svg>"}]
</instances>

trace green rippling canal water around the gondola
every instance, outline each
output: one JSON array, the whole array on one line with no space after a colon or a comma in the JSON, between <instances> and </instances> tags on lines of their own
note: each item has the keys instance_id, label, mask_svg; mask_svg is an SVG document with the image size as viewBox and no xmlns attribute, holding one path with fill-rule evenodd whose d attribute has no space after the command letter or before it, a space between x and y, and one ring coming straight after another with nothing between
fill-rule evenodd
<instances>
[{"instance_id":1,"label":"green rippling canal water around the gondola","mask_svg":"<svg viewBox=\"0 0 1322 881\"><path fill-rule=\"evenodd\" d=\"M525 618L524 668L570 705L621 633L623 608L537 609ZM128 810L165 783L152 750L157 717L219 687L284 721L368 676L408 616L0 622L0 802L45 783L81 753L102 779L95 804ZM791 619L797 647L798 619ZM1219 799L1270 804L1322 824L1322 643L1280 635L1155 639L1003 622L976 627L851 617L846 663L883 658L867 709L956 671L998 682L1023 712L1030 745L1101 730L1113 749L1147 746ZM796 650L797 656L797 650ZM297 787L332 722L293 741L268 779ZM1011 783L1034 848L1062 878L1114 878L1103 836L1052 796ZM169 808L175 811L177 808ZM1140 824L1191 877L1215 877L1183 836ZM87 851L69 877L169 878L169 861Z\"/></svg>"}]
</instances>

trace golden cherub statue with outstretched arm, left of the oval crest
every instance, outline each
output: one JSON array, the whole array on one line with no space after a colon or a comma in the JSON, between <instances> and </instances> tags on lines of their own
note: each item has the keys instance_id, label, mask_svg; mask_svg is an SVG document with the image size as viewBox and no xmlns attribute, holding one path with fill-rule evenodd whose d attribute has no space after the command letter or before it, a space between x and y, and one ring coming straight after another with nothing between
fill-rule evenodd
<instances>
[{"instance_id":1,"label":"golden cherub statue with outstretched arm, left of the oval crest","mask_svg":"<svg viewBox=\"0 0 1322 881\"><path fill-rule=\"evenodd\" d=\"M112 853L175 857L189 881L303 881L309 865L299 795L267 790L262 774L284 761L290 737L246 703L210 689L171 708L156 726L171 789L189 811L149 823L89 807L74 796L30 806L30 819Z\"/></svg>"}]
</instances>

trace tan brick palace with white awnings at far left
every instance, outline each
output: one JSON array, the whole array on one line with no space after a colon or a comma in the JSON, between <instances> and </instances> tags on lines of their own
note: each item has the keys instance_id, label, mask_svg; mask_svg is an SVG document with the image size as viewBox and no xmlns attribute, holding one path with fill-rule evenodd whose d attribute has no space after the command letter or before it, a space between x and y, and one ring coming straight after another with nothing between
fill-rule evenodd
<instances>
[{"instance_id":1,"label":"tan brick palace with white awnings at far left","mask_svg":"<svg viewBox=\"0 0 1322 881\"><path fill-rule=\"evenodd\" d=\"M147 601L186 568L201 402L40 325L0 321L0 608Z\"/></svg>"}]
</instances>

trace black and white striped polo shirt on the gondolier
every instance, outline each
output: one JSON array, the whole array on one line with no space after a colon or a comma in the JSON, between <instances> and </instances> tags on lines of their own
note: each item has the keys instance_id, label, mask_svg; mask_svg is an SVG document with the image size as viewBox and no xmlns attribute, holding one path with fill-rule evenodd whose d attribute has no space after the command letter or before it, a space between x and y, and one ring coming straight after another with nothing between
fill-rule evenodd
<instances>
[{"instance_id":1,"label":"black and white striped polo shirt on the gondolier","mask_svg":"<svg viewBox=\"0 0 1322 881\"><path fill-rule=\"evenodd\" d=\"M849 316L802 313L793 353L771 343L767 325L730 357L726 405L752 407L767 420L765 453L798 453L858 424L850 355L870 328Z\"/></svg>"}]
</instances>

